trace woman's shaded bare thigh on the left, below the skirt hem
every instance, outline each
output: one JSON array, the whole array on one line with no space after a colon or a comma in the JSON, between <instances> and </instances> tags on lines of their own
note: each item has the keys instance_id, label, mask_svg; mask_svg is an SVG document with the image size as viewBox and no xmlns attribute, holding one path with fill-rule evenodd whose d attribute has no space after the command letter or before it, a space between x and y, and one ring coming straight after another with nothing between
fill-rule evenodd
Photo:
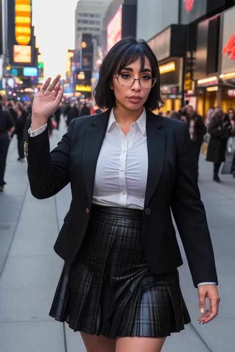
<instances>
[{"instance_id":1,"label":"woman's shaded bare thigh on the left, below the skirt hem","mask_svg":"<svg viewBox=\"0 0 235 352\"><path fill-rule=\"evenodd\" d=\"M115 352L116 340L80 333L87 352Z\"/></svg>"}]
</instances>

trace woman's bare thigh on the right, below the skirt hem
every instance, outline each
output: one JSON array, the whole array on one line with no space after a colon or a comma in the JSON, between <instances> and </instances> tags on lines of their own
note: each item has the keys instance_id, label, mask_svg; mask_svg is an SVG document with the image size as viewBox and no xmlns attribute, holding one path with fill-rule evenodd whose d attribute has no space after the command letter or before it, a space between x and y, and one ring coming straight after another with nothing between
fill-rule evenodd
<instances>
[{"instance_id":1,"label":"woman's bare thigh on the right, below the skirt hem","mask_svg":"<svg viewBox=\"0 0 235 352\"><path fill-rule=\"evenodd\" d=\"M165 340L165 337L118 337L116 352L161 352Z\"/></svg>"}]
</instances>

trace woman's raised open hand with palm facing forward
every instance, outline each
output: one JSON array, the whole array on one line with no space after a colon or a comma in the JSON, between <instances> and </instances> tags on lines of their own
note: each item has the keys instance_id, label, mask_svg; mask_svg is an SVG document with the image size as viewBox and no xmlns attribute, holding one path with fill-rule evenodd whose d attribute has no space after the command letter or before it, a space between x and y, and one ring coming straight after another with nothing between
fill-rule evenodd
<instances>
[{"instance_id":1,"label":"woman's raised open hand with palm facing forward","mask_svg":"<svg viewBox=\"0 0 235 352\"><path fill-rule=\"evenodd\" d=\"M58 109L63 96L63 87L60 86L60 75L54 79L52 84L51 78L48 78L33 101L32 115L48 119Z\"/></svg>"}]
</instances>

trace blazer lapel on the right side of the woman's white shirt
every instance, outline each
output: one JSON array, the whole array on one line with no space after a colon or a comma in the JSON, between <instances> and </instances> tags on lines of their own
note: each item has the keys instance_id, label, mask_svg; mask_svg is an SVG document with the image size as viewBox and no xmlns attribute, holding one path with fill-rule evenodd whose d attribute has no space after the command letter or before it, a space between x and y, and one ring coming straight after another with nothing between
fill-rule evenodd
<instances>
[{"instance_id":1,"label":"blazer lapel on the right side of the woman's white shirt","mask_svg":"<svg viewBox=\"0 0 235 352\"><path fill-rule=\"evenodd\" d=\"M162 175L165 150L166 132L162 130L160 118L151 111L146 110L146 135L148 148L148 176L144 207L150 201Z\"/></svg>"}]
</instances>

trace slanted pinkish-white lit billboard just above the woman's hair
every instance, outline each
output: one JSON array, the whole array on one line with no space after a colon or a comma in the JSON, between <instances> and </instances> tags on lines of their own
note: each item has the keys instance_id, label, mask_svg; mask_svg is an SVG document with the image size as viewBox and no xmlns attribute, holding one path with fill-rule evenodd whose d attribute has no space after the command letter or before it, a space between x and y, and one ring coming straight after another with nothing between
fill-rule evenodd
<instances>
[{"instance_id":1,"label":"slanted pinkish-white lit billboard just above the woman's hair","mask_svg":"<svg viewBox=\"0 0 235 352\"><path fill-rule=\"evenodd\" d=\"M107 26L107 51L121 40L122 6L120 6Z\"/></svg>"}]
</instances>

